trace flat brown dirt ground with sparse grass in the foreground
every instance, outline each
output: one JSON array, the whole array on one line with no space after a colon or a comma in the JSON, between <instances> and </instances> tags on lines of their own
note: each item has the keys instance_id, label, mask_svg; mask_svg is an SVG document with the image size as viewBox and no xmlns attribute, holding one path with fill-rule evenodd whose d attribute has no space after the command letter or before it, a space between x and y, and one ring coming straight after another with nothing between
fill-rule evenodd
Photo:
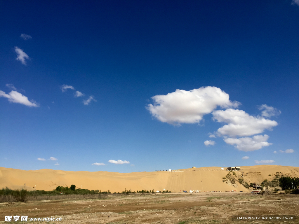
<instances>
[{"instance_id":1,"label":"flat brown dirt ground with sparse grass in the foreground","mask_svg":"<svg viewBox=\"0 0 299 224\"><path fill-rule=\"evenodd\" d=\"M0 203L0 223L28 215L26 223L299 223L299 195L239 192L109 195L103 200ZM296 221L232 221L232 215L295 215ZM30 217L62 221L29 221ZM20 223L20 221L13 222ZM22 222L24 223L24 222Z\"/></svg>"}]
</instances>

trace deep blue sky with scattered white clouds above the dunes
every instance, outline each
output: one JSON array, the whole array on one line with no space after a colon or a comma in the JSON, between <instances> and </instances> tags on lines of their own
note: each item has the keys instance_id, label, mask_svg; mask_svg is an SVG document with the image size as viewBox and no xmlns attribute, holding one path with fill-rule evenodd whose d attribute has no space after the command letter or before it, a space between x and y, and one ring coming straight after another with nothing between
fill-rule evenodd
<instances>
[{"instance_id":1,"label":"deep blue sky with scattered white clouds above the dunes","mask_svg":"<svg viewBox=\"0 0 299 224\"><path fill-rule=\"evenodd\" d=\"M0 4L0 166L299 166L298 0Z\"/></svg>"}]
</instances>

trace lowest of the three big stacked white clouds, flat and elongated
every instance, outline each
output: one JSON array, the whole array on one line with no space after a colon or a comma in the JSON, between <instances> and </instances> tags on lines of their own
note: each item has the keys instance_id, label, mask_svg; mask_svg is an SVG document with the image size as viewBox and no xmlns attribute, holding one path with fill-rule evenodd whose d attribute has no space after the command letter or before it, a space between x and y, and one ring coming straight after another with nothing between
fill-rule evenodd
<instances>
[{"instance_id":1,"label":"lowest of the three big stacked white clouds, flat and elongated","mask_svg":"<svg viewBox=\"0 0 299 224\"><path fill-rule=\"evenodd\" d=\"M240 151L248 152L272 145L272 143L266 142L268 138L268 135L255 135L252 138L226 138L223 140L229 145L235 145L235 148L239 149Z\"/></svg>"}]
</instances>

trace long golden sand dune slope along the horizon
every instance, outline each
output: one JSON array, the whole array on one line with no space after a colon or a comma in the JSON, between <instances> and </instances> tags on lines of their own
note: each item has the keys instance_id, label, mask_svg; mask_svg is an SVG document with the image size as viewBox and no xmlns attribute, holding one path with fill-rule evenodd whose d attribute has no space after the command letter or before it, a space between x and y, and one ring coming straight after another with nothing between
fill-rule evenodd
<instances>
[{"instance_id":1,"label":"long golden sand dune slope along the horizon","mask_svg":"<svg viewBox=\"0 0 299 224\"><path fill-rule=\"evenodd\" d=\"M226 169L226 168L225 168ZM291 177L299 177L299 167L278 165L243 166L244 181L262 182L264 179L272 180L276 172ZM138 173L114 173L114 172L88 172L88 171L61 171L61 170L18 170L0 167L0 188L11 189L24 188L33 190L53 190L57 186L76 185L76 188L89 190L101 190L121 192L125 188L135 191L166 189L180 192L181 190L199 191L249 191L241 184L230 186L222 182L228 171L220 171L220 167L201 167L182 169L167 172L138 172ZM242 176L242 171L236 171L237 176ZM248 173L248 176L246 176ZM272 176L269 176L271 174ZM26 183L26 186L24 186ZM82 187L81 187L82 186Z\"/></svg>"}]
</instances>

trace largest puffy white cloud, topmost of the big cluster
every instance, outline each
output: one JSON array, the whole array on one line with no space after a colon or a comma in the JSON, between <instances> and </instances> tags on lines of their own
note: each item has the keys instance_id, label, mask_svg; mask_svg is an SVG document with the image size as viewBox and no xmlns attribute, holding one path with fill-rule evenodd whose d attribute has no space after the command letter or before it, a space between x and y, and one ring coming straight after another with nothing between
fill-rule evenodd
<instances>
[{"instance_id":1,"label":"largest puffy white cloud, topmost of the big cluster","mask_svg":"<svg viewBox=\"0 0 299 224\"><path fill-rule=\"evenodd\" d=\"M147 109L156 119L169 124L198 123L218 106L229 108L240 104L231 102L227 93L212 86L190 91L177 89L167 95L153 96L152 100L154 104L148 104Z\"/></svg>"}]
</instances>

